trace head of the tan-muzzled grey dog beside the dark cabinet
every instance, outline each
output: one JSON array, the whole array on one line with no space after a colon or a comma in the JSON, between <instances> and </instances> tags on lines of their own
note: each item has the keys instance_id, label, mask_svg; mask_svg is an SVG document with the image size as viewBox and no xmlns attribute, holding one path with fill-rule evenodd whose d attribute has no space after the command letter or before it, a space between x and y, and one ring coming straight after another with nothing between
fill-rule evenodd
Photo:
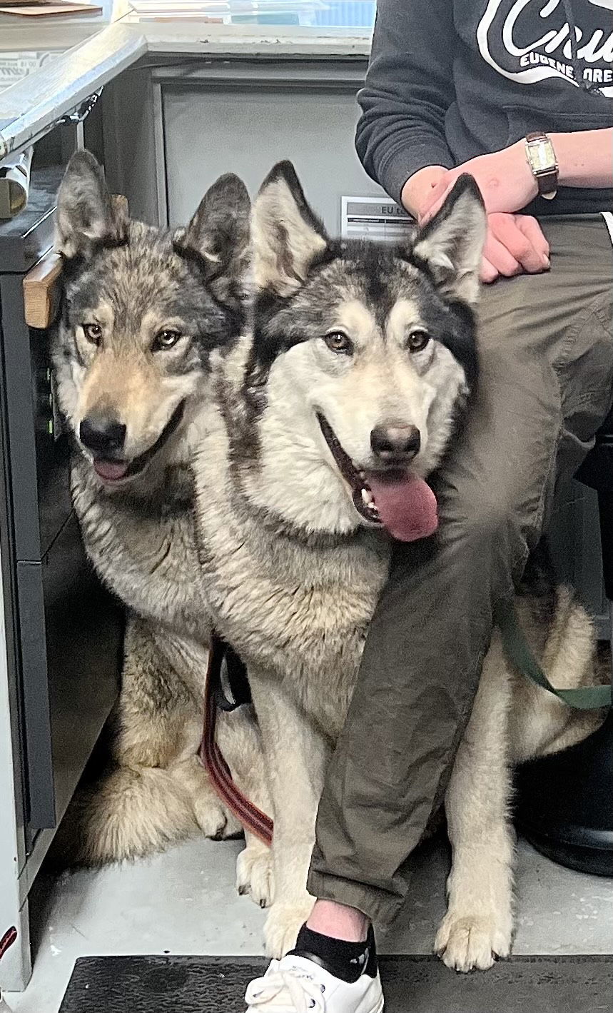
<instances>
[{"instance_id":1,"label":"head of the tan-muzzled grey dog beside the dark cabinet","mask_svg":"<svg viewBox=\"0 0 613 1013\"><path fill-rule=\"evenodd\" d=\"M249 209L238 177L222 176L186 228L162 232L129 219L92 155L71 159L54 364L62 413L107 489L178 452L212 352L240 334Z\"/></svg>"}]
</instances>

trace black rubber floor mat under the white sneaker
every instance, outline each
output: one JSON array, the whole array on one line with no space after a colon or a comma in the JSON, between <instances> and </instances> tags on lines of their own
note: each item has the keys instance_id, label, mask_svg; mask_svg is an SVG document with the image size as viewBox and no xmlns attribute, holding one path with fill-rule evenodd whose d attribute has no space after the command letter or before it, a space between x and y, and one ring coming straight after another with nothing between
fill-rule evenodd
<instances>
[{"instance_id":1,"label":"black rubber floor mat under the white sneaker","mask_svg":"<svg viewBox=\"0 0 613 1013\"><path fill-rule=\"evenodd\" d=\"M242 1013L253 957L77 960L60 1013ZM385 1013L613 1013L613 956L517 956L456 975L432 956L381 958Z\"/></svg>"}]
</instances>

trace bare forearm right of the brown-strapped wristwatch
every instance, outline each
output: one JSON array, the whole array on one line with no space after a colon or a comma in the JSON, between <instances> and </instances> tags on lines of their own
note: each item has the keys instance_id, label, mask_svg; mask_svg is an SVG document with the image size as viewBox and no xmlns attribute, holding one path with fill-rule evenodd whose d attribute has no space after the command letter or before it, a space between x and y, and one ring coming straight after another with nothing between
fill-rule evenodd
<instances>
[{"instance_id":1,"label":"bare forearm right of the brown-strapped wristwatch","mask_svg":"<svg viewBox=\"0 0 613 1013\"><path fill-rule=\"evenodd\" d=\"M613 127L549 136L560 186L613 186Z\"/></svg>"}]
</instances>

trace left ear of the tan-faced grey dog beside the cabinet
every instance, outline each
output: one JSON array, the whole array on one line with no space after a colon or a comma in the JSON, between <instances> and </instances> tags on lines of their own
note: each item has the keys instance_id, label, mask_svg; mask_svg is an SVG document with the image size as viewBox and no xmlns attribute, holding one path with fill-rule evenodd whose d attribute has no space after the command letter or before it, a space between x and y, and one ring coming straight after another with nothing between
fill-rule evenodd
<instances>
[{"instance_id":1,"label":"left ear of the tan-faced grey dog beside the cabinet","mask_svg":"<svg viewBox=\"0 0 613 1013\"><path fill-rule=\"evenodd\" d=\"M93 155L75 152L58 192L56 250L67 259L87 256L94 243L122 242L127 232L127 203L111 200Z\"/></svg>"}]
</instances>

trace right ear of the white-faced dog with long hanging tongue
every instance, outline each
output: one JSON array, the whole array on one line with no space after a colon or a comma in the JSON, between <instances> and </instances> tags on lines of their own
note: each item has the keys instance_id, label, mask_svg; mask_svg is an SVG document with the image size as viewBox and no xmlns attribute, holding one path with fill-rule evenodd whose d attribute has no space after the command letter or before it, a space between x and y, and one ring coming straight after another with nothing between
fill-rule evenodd
<instances>
[{"instance_id":1,"label":"right ear of the white-faced dog with long hanging tongue","mask_svg":"<svg viewBox=\"0 0 613 1013\"><path fill-rule=\"evenodd\" d=\"M487 216L472 176L463 173L445 204L417 232L412 252L425 260L444 292L476 303Z\"/></svg>"}]
</instances>

